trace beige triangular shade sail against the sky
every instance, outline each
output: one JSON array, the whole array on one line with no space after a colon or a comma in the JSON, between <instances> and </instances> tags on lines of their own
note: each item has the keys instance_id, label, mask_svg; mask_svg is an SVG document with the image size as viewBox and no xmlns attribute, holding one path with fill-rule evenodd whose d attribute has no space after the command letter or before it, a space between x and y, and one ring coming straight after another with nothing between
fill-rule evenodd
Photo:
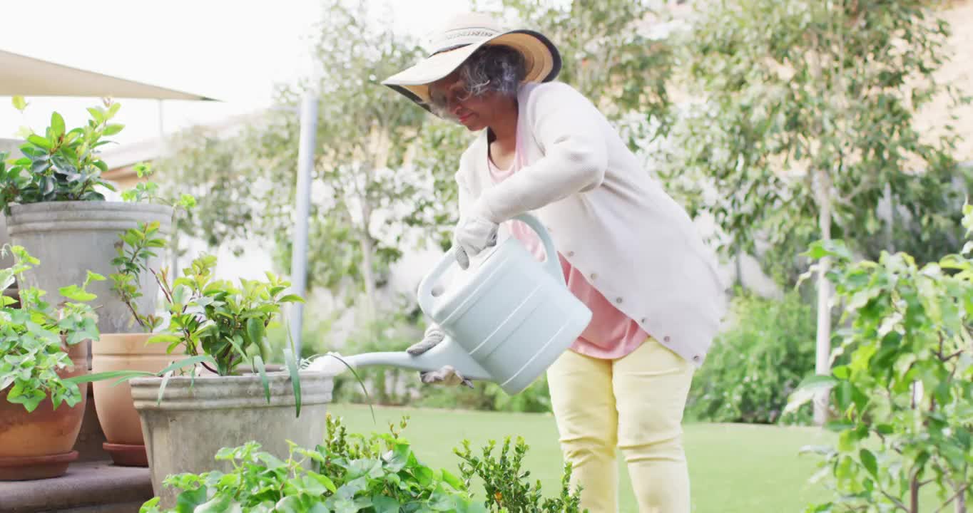
<instances>
[{"instance_id":1,"label":"beige triangular shade sail against the sky","mask_svg":"<svg viewBox=\"0 0 973 513\"><path fill-rule=\"evenodd\" d=\"M0 96L16 95L213 100L0 50Z\"/></svg>"}]
</instances>

